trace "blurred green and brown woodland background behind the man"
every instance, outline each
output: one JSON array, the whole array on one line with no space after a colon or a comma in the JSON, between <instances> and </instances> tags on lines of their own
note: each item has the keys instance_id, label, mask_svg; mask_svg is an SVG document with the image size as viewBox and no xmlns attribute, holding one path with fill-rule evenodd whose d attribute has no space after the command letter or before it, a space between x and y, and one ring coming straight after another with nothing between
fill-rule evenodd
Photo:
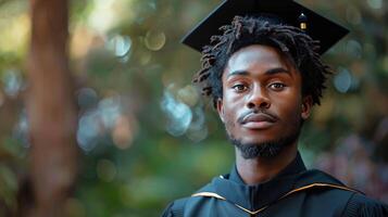
<instances>
[{"instance_id":1,"label":"blurred green and brown woodland background behind the man","mask_svg":"<svg viewBox=\"0 0 388 217\"><path fill-rule=\"evenodd\" d=\"M234 149L190 84L200 54L179 43L218 0L68 1L59 9L70 31L62 77L34 73L39 48L50 48L30 38L32 13L42 14L30 2L0 0L0 216L47 209L49 201L64 216L159 216L229 171ZM302 157L388 203L388 3L298 2L351 30L324 56L336 74L304 126ZM68 99L40 110L45 94ZM57 118L72 114L74 122ZM50 142L61 130L62 142ZM46 195L50 189L59 193Z\"/></svg>"}]
</instances>

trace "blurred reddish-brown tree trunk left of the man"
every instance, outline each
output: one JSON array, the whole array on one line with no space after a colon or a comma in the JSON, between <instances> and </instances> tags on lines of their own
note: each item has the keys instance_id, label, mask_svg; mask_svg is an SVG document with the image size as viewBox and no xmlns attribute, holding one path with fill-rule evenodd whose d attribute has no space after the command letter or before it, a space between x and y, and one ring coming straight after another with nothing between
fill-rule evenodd
<instances>
[{"instance_id":1,"label":"blurred reddish-brown tree trunk left of the man","mask_svg":"<svg viewBox=\"0 0 388 217\"><path fill-rule=\"evenodd\" d=\"M77 173L74 86L67 65L67 0L30 0L27 114L34 207L28 216L63 216Z\"/></svg>"}]
</instances>

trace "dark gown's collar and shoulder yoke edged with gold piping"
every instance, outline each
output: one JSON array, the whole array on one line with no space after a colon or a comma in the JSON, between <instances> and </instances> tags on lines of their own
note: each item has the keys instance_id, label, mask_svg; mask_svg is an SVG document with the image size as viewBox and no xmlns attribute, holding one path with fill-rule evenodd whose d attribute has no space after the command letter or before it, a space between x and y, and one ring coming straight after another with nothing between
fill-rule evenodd
<instances>
[{"instance_id":1,"label":"dark gown's collar and shoulder yoke edged with gold piping","mask_svg":"<svg viewBox=\"0 0 388 217\"><path fill-rule=\"evenodd\" d=\"M296 158L270 181L248 186L234 166L229 175L214 178L211 183L191 196L224 200L253 215L284 197L312 188L358 192L321 170L306 170L302 157L298 153Z\"/></svg>"}]
</instances>

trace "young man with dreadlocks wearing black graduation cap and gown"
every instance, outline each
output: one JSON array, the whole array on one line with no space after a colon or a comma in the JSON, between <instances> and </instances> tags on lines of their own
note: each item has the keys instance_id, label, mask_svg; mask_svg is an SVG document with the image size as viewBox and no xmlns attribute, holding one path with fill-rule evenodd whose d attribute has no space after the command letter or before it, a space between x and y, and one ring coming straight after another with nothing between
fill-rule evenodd
<instances>
[{"instance_id":1,"label":"young man with dreadlocks wearing black graduation cap and gown","mask_svg":"<svg viewBox=\"0 0 388 217\"><path fill-rule=\"evenodd\" d=\"M298 153L330 73L321 55L346 34L290 0L227 0L193 29L184 42L203 54L195 82L214 102L236 166L163 216L388 216Z\"/></svg>"}]
</instances>

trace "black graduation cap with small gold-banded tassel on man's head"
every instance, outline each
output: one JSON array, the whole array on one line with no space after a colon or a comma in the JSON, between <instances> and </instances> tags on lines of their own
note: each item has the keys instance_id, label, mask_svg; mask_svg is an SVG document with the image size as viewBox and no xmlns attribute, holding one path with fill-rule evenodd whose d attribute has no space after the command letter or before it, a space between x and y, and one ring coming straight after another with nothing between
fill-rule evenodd
<instances>
[{"instance_id":1,"label":"black graduation cap with small gold-banded tassel on man's head","mask_svg":"<svg viewBox=\"0 0 388 217\"><path fill-rule=\"evenodd\" d=\"M314 40L321 41L320 54L325 53L349 30L316 14L292 0L225 0L183 39L183 43L201 52L211 36L221 35L221 26L229 25L236 15L270 14L283 24L300 27Z\"/></svg>"}]
</instances>

